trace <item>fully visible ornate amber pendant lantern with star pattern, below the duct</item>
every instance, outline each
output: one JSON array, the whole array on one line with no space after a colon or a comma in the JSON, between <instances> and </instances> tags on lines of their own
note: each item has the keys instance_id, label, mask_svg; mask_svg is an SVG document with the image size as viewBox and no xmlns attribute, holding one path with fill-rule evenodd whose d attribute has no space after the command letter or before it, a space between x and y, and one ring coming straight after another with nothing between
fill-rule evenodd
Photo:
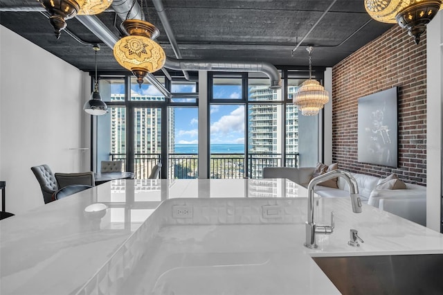
<instances>
[{"instance_id":1,"label":"fully visible ornate amber pendant lantern with star pattern, below the duct","mask_svg":"<svg viewBox=\"0 0 443 295\"><path fill-rule=\"evenodd\" d=\"M140 19L126 19L121 27L129 36L116 42L114 57L121 66L132 71L141 87L147 73L154 73L165 64L165 51L152 40L159 35L159 29Z\"/></svg>"}]
</instances>

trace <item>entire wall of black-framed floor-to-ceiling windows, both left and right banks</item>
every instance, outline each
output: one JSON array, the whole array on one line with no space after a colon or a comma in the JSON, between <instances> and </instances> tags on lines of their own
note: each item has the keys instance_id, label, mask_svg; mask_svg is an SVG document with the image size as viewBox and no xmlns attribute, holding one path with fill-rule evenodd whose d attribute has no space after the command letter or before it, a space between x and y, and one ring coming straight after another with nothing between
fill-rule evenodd
<instances>
[{"instance_id":1,"label":"entire wall of black-framed floor-to-ceiling windows, both left and right banks","mask_svg":"<svg viewBox=\"0 0 443 295\"><path fill-rule=\"evenodd\" d=\"M260 178L266 166L311 166L321 160L321 113L301 118L292 103L307 71L280 73L282 89L269 89L263 73L208 72L208 177ZM148 82L139 86L129 75L100 75L109 111L96 117L94 170L100 170L100 161L122 159L137 179L149 177L156 163L163 164L163 178L199 177L197 79L156 78L172 97Z\"/></svg>"}]
</instances>

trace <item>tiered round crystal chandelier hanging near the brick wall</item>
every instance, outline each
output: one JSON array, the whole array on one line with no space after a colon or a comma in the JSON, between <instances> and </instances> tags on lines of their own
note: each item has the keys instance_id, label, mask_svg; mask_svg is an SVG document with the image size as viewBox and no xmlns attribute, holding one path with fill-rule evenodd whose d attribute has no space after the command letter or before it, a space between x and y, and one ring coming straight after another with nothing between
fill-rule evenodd
<instances>
[{"instance_id":1,"label":"tiered round crystal chandelier hanging near the brick wall","mask_svg":"<svg viewBox=\"0 0 443 295\"><path fill-rule=\"evenodd\" d=\"M312 46L307 46L306 48L309 53L309 80L302 83L302 86L297 89L293 97L293 104L302 111L303 116L315 116L325 103L329 101L329 93L325 91L325 88L317 80L311 79L312 49Z\"/></svg>"}]
</instances>

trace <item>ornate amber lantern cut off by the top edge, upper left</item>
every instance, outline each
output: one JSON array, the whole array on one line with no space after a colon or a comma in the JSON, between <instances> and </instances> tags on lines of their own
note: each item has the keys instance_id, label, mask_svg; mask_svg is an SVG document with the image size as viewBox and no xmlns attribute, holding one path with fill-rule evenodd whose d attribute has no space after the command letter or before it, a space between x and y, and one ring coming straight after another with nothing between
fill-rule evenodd
<instances>
[{"instance_id":1,"label":"ornate amber lantern cut off by the top edge, upper left","mask_svg":"<svg viewBox=\"0 0 443 295\"><path fill-rule=\"evenodd\" d=\"M51 15L49 22L54 28L55 37L66 28L66 19L75 15L97 15L108 8L112 0L38 0Z\"/></svg>"}]
</instances>

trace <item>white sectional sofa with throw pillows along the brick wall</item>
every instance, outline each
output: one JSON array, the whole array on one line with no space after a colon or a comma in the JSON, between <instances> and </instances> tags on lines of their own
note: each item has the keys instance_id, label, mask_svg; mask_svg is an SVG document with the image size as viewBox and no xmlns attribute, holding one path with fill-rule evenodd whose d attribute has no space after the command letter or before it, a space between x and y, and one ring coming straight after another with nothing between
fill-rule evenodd
<instances>
[{"instance_id":1,"label":"white sectional sofa with throw pillows along the brick wall","mask_svg":"<svg viewBox=\"0 0 443 295\"><path fill-rule=\"evenodd\" d=\"M307 187L314 169L266 167L263 169L263 177L284 177ZM362 202L426 226L426 186L406 184L406 189L402 190L379 189L376 186L381 177L354 172L351 175L359 186ZM321 197L349 197L349 186L345 179L338 177L337 186L329 188L317 185L315 191Z\"/></svg>"}]
</instances>

